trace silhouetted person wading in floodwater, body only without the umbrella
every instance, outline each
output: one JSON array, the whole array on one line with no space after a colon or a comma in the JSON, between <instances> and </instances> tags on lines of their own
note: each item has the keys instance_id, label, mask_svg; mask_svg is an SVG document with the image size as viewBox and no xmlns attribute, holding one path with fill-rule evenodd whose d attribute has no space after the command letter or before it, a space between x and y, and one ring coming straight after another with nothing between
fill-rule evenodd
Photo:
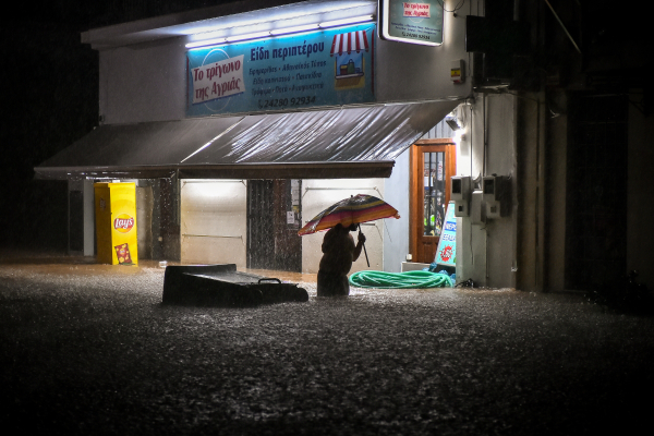
<instances>
[{"instance_id":1,"label":"silhouetted person wading in floodwater, body only without the umbrella","mask_svg":"<svg viewBox=\"0 0 654 436\"><path fill-rule=\"evenodd\" d=\"M323 258L318 269L318 296L349 295L348 272L352 263L361 255L365 235L360 231L356 245L350 232L356 231L356 225L349 227L338 223L329 229L323 239Z\"/></svg>"}]
</instances>

